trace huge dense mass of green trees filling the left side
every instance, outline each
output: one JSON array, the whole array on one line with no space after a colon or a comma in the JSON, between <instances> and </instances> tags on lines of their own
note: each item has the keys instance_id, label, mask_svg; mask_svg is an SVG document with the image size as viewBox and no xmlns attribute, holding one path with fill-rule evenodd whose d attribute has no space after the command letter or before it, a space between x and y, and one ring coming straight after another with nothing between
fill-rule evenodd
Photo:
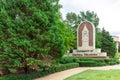
<instances>
[{"instance_id":1,"label":"huge dense mass of green trees filling the left side","mask_svg":"<svg viewBox=\"0 0 120 80\"><path fill-rule=\"evenodd\" d=\"M58 1L0 0L2 69L23 68L27 73L66 53L72 40L61 21Z\"/></svg>"}]
</instances>

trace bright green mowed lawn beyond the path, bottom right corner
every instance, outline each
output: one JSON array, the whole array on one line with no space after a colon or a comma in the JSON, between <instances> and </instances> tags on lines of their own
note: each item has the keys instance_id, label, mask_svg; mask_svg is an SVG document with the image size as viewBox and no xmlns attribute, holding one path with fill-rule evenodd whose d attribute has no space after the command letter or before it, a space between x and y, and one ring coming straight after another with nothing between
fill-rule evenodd
<instances>
[{"instance_id":1,"label":"bright green mowed lawn beyond the path, bottom right corner","mask_svg":"<svg viewBox=\"0 0 120 80\"><path fill-rule=\"evenodd\" d=\"M86 70L64 80L120 80L120 70Z\"/></svg>"}]
</instances>

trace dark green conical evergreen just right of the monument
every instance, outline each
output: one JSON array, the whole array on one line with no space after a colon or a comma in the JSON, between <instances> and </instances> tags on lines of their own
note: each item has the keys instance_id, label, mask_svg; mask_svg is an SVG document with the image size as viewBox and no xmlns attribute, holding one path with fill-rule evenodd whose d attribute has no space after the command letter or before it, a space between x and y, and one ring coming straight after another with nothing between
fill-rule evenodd
<instances>
[{"instance_id":1,"label":"dark green conical evergreen just right of the monument","mask_svg":"<svg viewBox=\"0 0 120 80\"><path fill-rule=\"evenodd\" d=\"M109 57L114 57L116 54L116 45L112 36L104 28L101 34L101 49L103 52L107 52Z\"/></svg>"}]
</instances>

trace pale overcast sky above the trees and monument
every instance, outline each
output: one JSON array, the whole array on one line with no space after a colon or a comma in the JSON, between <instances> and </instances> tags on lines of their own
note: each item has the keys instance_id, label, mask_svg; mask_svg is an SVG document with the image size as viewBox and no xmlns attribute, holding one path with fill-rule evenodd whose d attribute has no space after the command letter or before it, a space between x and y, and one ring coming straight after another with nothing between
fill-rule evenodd
<instances>
[{"instance_id":1,"label":"pale overcast sky above the trees and monument","mask_svg":"<svg viewBox=\"0 0 120 80\"><path fill-rule=\"evenodd\" d=\"M94 11L100 19L98 27L120 37L120 0L60 0L60 4L64 19L68 12Z\"/></svg>"}]
</instances>

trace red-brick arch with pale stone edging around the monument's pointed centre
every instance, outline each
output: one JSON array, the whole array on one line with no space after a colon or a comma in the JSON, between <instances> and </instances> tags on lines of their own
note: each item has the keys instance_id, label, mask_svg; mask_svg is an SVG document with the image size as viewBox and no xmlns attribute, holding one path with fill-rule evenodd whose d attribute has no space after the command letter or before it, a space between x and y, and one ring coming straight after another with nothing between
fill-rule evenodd
<instances>
[{"instance_id":1,"label":"red-brick arch with pale stone edging around the monument's pointed centre","mask_svg":"<svg viewBox=\"0 0 120 80\"><path fill-rule=\"evenodd\" d=\"M89 37L89 46L95 46L95 27L94 25L89 21L83 21L77 28L77 38L78 38L78 46L82 46L82 39L83 39L83 32L84 29L88 31L88 37Z\"/></svg>"}]
</instances>

